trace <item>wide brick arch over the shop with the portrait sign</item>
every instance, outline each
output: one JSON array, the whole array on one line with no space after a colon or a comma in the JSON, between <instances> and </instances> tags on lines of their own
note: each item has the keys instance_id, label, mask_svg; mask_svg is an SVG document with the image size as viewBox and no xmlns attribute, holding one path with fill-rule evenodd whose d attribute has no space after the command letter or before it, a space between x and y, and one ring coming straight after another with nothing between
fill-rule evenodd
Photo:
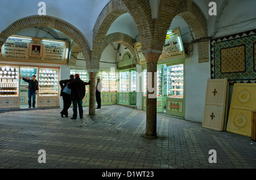
<instances>
[{"instance_id":1,"label":"wide brick arch over the shop with the portrait sign","mask_svg":"<svg viewBox=\"0 0 256 180\"><path fill-rule=\"evenodd\" d=\"M5 41L11 35L15 34L20 30L24 30L28 27L43 26L54 28L55 30L63 32L65 35L71 37L71 39L80 47L82 54L85 57L86 67L90 69L90 58L91 51L89 47L88 40L82 33L73 27L71 24L64 22L63 20L53 18L51 16L29 16L22 18L11 24L0 34L0 48L5 43Z\"/></svg>"}]
</instances>

